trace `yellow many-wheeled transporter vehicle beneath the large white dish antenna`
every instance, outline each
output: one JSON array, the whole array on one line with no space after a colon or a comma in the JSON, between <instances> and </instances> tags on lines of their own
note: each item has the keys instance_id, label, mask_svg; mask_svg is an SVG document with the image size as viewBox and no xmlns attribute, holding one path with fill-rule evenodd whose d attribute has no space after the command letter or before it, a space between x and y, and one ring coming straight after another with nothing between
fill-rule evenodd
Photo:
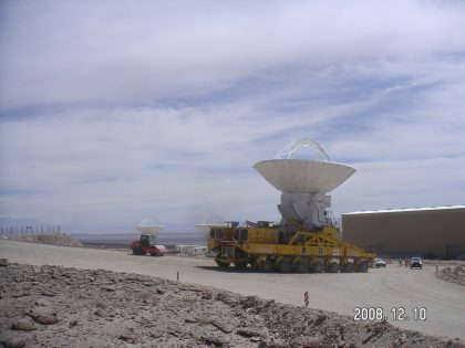
<instances>
[{"instance_id":1,"label":"yellow many-wheeled transporter vehicle beneath the large white dish antenna","mask_svg":"<svg viewBox=\"0 0 465 348\"><path fill-rule=\"evenodd\" d=\"M211 226L208 249L220 267L251 265L261 272L366 272L375 254L338 238L332 225L271 226L269 222Z\"/></svg>"}]
</instances>

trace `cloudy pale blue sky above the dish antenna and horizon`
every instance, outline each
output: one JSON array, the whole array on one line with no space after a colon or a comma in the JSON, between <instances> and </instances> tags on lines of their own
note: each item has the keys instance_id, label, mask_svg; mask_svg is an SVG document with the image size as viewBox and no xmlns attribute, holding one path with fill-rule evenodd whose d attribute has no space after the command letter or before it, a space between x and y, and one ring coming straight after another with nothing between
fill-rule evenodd
<instances>
[{"instance_id":1,"label":"cloudy pale blue sky above the dish antenna and horizon","mask_svg":"<svg viewBox=\"0 0 465 348\"><path fill-rule=\"evenodd\" d=\"M2 1L0 217L73 232L278 220L296 137L335 214L465 203L462 1Z\"/></svg>"}]
</instances>

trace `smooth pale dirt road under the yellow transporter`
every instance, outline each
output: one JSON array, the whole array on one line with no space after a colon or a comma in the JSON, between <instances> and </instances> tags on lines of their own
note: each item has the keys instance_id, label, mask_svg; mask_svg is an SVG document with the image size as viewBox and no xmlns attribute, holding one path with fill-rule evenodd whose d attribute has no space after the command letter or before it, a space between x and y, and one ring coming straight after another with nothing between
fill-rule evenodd
<instances>
[{"instance_id":1,"label":"smooth pale dirt road under the yellow transporter","mask_svg":"<svg viewBox=\"0 0 465 348\"><path fill-rule=\"evenodd\" d=\"M382 307L389 321L428 335L465 339L465 287L435 277L434 266L410 270L389 265L354 274L260 274L220 271L213 260L133 256L125 252L0 241L0 257L25 264L133 272L209 285L245 295L353 315L355 307ZM391 308L404 308L409 320L394 321ZM426 320L414 308L426 308Z\"/></svg>"}]
</instances>

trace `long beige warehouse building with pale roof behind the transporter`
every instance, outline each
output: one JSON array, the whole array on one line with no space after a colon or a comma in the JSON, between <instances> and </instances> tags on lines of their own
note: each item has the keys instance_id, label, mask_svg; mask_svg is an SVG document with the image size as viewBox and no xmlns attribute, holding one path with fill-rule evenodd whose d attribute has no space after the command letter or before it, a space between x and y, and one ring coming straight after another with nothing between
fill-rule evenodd
<instances>
[{"instance_id":1,"label":"long beige warehouse building with pale roof behind the transporter","mask_svg":"<svg viewBox=\"0 0 465 348\"><path fill-rule=\"evenodd\" d=\"M465 257L465 205L342 214L342 238L380 255Z\"/></svg>"}]
</instances>

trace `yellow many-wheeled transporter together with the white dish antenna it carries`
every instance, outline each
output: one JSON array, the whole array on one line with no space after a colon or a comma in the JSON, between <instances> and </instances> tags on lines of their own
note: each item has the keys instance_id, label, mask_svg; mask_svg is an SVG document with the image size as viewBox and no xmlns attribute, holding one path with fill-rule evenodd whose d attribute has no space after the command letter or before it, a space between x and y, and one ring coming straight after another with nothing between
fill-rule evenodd
<instances>
[{"instance_id":1,"label":"yellow many-wheeled transporter together with the white dish antenna it carries","mask_svg":"<svg viewBox=\"0 0 465 348\"><path fill-rule=\"evenodd\" d=\"M307 148L311 158L294 158ZM307 158L307 159L306 159ZM310 138L296 139L275 159L254 168L278 191L281 225L269 222L239 226L211 226L208 247L220 267L251 265L262 272L366 272L375 254L343 242L331 219L331 197L327 194L355 171L331 161Z\"/></svg>"}]
</instances>

